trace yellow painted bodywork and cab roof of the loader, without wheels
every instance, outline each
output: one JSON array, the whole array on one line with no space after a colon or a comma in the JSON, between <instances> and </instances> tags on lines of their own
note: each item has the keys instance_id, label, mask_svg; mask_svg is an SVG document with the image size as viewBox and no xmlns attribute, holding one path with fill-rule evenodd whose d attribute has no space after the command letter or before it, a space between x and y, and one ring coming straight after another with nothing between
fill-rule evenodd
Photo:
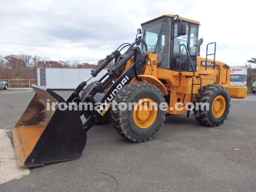
<instances>
[{"instance_id":1,"label":"yellow painted bodywork and cab roof of the loader, without wheels","mask_svg":"<svg viewBox=\"0 0 256 192\"><path fill-rule=\"evenodd\" d=\"M154 18L153 20L159 19L163 16L174 17L174 15L162 15L160 17ZM198 21L186 19L180 17L181 20L185 22L190 22L194 24L200 24ZM150 20L148 22L151 22ZM146 24L148 22L144 22ZM184 104L191 101L191 94L198 94L200 90L200 85L193 85L192 87L192 76L193 72L182 71L182 75L178 71L173 71L169 69L163 69L157 67L157 57L158 54L153 54L152 52L146 52L148 58L146 59L146 64L143 66L144 74L139 77L142 81L154 84L158 87L165 96L170 96L169 109L167 110L170 114L182 114L186 113L187 110L184 106L180 106L181 110L176 110L175 104L177 102L183 102ZM151 65L147 65L147 60L151 61ZM215 62L216 67L202 65L202 62L206 62L206 58L197 57L196 72L193 76L194 84L200 84L202 79L202 87L210 84L216 84L224 86L230 93L230 98L245 98L247 94L246 87L230 86L230 67L224 62L213 60L207 58L207 62ZM161 80L161 81L160 81ZM163 80L165 83L163 84ZM138 82L134 78L132 82ZM193 92L192 91L193 88ZM167 97L165 97L167 100ZM193 101L196 98L193 99ZM169 100L169 99L168 99Z\"/></svg>"}]
</instances>

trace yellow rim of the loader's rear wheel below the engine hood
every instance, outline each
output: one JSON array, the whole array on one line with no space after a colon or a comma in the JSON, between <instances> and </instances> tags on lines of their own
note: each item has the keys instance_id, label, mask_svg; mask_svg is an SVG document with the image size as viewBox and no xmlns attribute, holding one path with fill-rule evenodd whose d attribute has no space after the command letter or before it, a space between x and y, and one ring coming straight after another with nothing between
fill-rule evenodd
<instances>
[{"instance_id":1,"label":"yellow rim of the loader's rear wheel below the engine hood","mask_svg":"<svg viewBox=\"0 0 256 192\"><path fill-rule=\"evenodd\" d=\"M217 96L212 102L212 114L214 117L221 117L226 109L225 98L221 95Z\"/></svg>"}]
</instances>

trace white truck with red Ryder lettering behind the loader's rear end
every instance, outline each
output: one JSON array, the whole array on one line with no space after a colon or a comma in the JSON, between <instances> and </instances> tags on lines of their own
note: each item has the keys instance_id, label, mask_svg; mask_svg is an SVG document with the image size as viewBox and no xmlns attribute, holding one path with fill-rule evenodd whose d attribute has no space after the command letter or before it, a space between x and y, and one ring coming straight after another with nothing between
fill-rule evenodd
<instances>
[{"instance_id":1,"label":"white truck with red Ryder lettering behind the loader's rear end","mask_svg":"<svg viewBox=\"0 0 256 192\"><path fill-rule=\"evenodd\" d=\"M230 70L230 85L245 86L247 83L247 65L231 66Z\"/></svg>"}]
</instances>

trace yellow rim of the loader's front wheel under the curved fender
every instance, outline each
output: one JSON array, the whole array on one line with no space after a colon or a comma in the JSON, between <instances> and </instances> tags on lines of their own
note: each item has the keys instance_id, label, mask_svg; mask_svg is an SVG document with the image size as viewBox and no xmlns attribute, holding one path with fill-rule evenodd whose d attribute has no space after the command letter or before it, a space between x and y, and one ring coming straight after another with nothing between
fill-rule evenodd
<instances>
[{"instance_id":1,"label":"yellow rim of the loader's front wheel under the curved fender","mask_svg":"<svg viewBox=\"0 0 256 192\"><path fill-rule=\"evenodd\" d=\"M142 129L150 127L156 120L157 106L150 98L144 98L137 102L133 110L134 123Z\"/></svg>"}]
</instances>

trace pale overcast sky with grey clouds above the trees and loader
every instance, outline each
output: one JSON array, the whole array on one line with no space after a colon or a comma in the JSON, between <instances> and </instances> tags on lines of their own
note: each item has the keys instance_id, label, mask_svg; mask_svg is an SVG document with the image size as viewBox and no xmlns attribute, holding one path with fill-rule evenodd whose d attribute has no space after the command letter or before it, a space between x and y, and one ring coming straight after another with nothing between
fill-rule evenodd
<instances>
[{"instance_id":1,"label":"pale overcast sky with grey clouds above the trees and loader","mask_svg":"<svg viewBox=\"0 0 256 192\"><path fill-rule=\"evenodd\" d=\"M133 42L142 22L178 14L200 22L199 38L216 42L216 59L243 65L256 57L253 0L0 0L0 55L96 62Z\"/></svg>"}]
</instances>

